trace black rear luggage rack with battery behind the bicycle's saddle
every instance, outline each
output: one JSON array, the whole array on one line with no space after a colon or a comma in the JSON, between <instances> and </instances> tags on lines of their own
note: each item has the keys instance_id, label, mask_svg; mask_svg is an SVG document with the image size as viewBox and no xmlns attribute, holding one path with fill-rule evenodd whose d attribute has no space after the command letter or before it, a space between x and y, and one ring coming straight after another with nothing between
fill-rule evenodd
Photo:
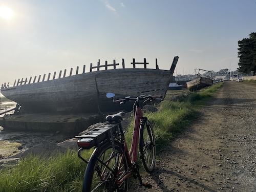
<instances>
[{"instance_id":1,"label":"black rear luggage rack with battery behind the bicycle's saddle","mask_svg":"<svg viewBox=\"0 0 256 192\"><path fill-rule=\"evenodd\" d=\"M112 133L115 133L118 130L118 123L104 123L88 133L76 136L76 138L79 139L77 144L79 147L86 150L89 150L93 146L99 146L99 144L106 139L110 140L110 129L112 129Z\"/></svg>"}]
</instances>

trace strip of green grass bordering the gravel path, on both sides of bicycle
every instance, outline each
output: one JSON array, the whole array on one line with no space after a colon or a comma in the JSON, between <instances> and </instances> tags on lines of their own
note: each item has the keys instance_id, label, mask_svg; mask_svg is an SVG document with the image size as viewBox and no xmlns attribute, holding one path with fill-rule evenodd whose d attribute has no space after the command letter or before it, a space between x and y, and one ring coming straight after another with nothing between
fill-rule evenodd
<instances>
[{"instance_id":1,"label":"strip of green grass bordering the gravel path, on both sides of bicycle","mask_svg":"<svg viewBox=\"0 0 256 192\"><path fill-rule=\"evenodd\" d=\"M159 105L158 112L146 113L153 123L156 135L157 153L167 146L169 140L184 130L198 115L198 106L212 97L222 83L187 96L166 97ZM176 101L174 101L176 100ZM133 118L125 133L131 145ZM83 154L89 159L90 153ZM86 164L77 157L77 152L68 151L50 158L28 156L12 168L4 168L0 175L0 191L81 191Z\"/></svg>"}]
</instances>

